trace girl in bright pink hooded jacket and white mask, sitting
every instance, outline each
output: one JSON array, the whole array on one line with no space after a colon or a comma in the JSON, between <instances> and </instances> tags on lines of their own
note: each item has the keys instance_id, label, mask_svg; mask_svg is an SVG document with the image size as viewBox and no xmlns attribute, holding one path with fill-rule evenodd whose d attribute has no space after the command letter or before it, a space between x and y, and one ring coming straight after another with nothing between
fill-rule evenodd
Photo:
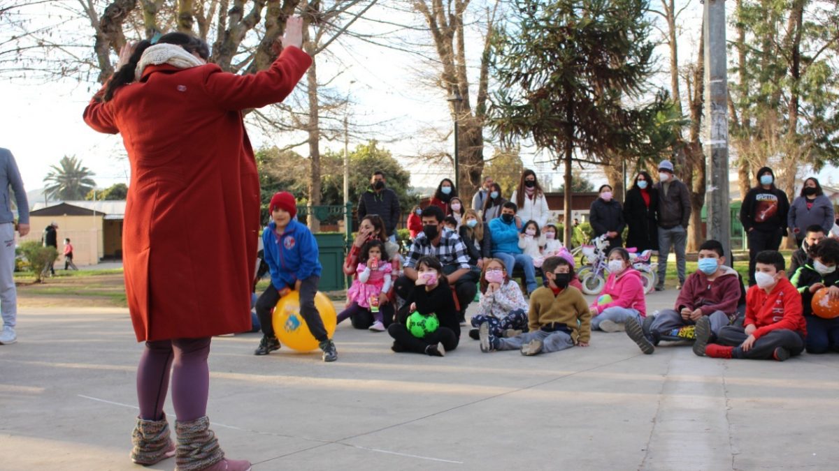
<instances>
[{"instance_id":1,"label":"girl in bright pink hooded jacket and white mask, sitting","mask_svg":"<svg viewBox=\"0 0 839 471\"><path fill-rule=\"evenodd\" d=\"M591 330L620 332L628 318L635 318L640 323L647 317L644 283L641 274L629 262L629 252L623 247L609 251L608 264L610 274L602 297L591 306L591 312L596 313L591 318ZM603 298L607 295L611 299Z\"/></svg>"}]
</instances>

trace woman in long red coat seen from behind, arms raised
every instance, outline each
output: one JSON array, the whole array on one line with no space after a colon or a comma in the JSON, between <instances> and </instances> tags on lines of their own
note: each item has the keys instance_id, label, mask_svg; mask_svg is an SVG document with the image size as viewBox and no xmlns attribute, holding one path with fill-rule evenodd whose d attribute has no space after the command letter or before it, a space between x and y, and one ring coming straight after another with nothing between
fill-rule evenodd
<instances>
[{"instance_id":1,"label":"woman in long red coat seen from behind, arms raised","mask_svg":"<svg viewBox=\"0 0 839 471\"><path fill-rule=\"evenodd\" d=\"M227 460L206 417L211 336L250 330L259 182L242 110L283 101L311 64L290 18L268 70L233 75L206 64L201 39L165 34L120 52L117 73L84 114L122 134L131 184L122 235L128 309L140 359L131 458L176 454L179 469L249 469ZM136 81L135 81L136 80ZM171 371L178 445L163 412Z\"/></svg>"}]
</instances>

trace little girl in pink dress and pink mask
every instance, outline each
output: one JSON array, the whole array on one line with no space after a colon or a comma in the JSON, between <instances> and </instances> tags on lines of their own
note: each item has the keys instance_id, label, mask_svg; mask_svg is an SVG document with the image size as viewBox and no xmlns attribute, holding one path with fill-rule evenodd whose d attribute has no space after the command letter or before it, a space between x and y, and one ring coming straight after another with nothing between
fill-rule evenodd
<instances>
[{"instance_id":1,"label":"little girl in pink dress and pink mask","mask_svg":"<svg viewBox=\"0 0 839 471\"><path fill-rule=\"evenodd\" d=\"M338 314L337 322L341 323L353 314L367 311L373 315L370 330L384 332L383 316L379 309L382 304L388 303L393 266L388 261L388 252L382 241L367 241L362 246L356 271L358 277L347 290L349 306Z\"/></svg>"}]
</instances>

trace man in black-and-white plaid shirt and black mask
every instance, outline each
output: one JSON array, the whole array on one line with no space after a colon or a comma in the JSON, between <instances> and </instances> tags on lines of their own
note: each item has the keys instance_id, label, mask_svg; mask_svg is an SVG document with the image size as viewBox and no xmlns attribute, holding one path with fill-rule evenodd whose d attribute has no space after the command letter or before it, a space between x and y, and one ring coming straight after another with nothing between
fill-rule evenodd
<instances>
[{"instance_id":1,"label":"man in black-and-white plaid shirt and black mask","mask_svg":"<svg viewBox=\"0 0 839 471\"><path fill-rule=\"evenodd\" d=\"M422 211L423 231L411 244L408 258L405 260L404 274L396 280L396 293L407 299L417 280L416 262L420 256L435 256L443 266L443 272L449 283L455 286L457 302L460 304L461 324L466 323L466 307L477 293L477 274L469 265L466 244L454 231L443 230L443 210L438 206L429 206Z\"/></svg>"}]
</instances>

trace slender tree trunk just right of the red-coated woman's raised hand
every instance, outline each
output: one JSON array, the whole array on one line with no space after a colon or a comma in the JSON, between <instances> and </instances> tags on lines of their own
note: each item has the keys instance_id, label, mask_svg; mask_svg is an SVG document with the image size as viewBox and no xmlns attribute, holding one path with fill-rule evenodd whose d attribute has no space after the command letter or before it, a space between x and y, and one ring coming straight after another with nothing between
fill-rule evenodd
<instances>
[{"instance_id":1,"label":"slender tree trunk just right of the red-coated woman's raised hand","mask_svg":"<svg viewBox=\"0 0 839 471\"><path fill-rule=\"evenodd\" d=\"M309 37L308 22L304 23L303 28L303 49L307 54L315 57L316 41ZM318 104L318 85L317 85L317 67L315 60L312 60L312 65L306 71L306 85L308 86L307 94L309 97L309 158L310 158L310 178L309 178L309 217L307 224L312 232L320 230L320 220L318 220L313 211L312 206L320 205L320 106Z\"/></svg>"}]
</instances>

